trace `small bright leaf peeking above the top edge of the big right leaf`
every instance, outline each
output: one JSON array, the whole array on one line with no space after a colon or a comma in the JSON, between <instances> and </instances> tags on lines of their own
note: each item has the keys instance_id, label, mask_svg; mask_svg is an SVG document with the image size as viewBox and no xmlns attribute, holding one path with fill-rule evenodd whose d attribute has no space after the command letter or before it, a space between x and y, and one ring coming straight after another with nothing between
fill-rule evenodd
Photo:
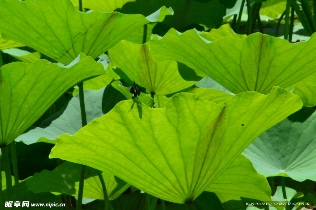
<instances>
[{"instance_id":1,"label":"small bright leaf peeking above the top edge of the big right leaf","mask_svg":"<svg viewBox=\"0 0 316 210\"><path fill-rule=\"evenodd\" d=\"M201 37L203 37L204 39L207 39L207 40L212 41L212 42L217 40L217 39L221 39L221 38L227 37L227 36L233 37L235 39L242 39L242 38L247 36L245 34L241 35L241 34L235 33L228 23L222 25L218 29L213 28L210 32L202 31L199 33L199 35Z\"/></svg>"}]
</instances>

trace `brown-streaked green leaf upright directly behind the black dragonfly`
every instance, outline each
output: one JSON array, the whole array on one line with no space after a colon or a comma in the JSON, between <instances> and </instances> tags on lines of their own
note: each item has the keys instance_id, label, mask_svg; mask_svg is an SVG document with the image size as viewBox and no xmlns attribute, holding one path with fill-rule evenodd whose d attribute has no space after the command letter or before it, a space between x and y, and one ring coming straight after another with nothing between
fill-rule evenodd
<instances>
[{"instance_id":1,"label":"brown-streaked green leaf upright directly behind the black dragonfly","mask_svg":"<svg viewBox=\"0 0 316 210\"><path fill-rule=\"evenodd\" d=\"M113 66L117 66L147 93L167 95L192 86L196 81L185 81L176 61L154 61L149 42L144 45L122 40L109 51Z\"/></svg>"}]
</instances>

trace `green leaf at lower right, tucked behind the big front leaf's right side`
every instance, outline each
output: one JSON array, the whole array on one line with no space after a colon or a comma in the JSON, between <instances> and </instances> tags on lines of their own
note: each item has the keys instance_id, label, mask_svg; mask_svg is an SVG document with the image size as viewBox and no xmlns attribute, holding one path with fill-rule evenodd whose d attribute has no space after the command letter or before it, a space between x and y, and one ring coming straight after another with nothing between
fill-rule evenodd
<instances>
[{"instance_id":1,"label":"green leaf at lower right, tucked behind the big front leaf's right side","mask_svg":"<svg viewBox=\"0 0 316 210\"><path fill-rule=\"evenodd\" d=\"M212 183L207 191L215 192L221 202L240 200L240 197L272 201L267 179L242 154Z\"/></svg>"}]
</instances>

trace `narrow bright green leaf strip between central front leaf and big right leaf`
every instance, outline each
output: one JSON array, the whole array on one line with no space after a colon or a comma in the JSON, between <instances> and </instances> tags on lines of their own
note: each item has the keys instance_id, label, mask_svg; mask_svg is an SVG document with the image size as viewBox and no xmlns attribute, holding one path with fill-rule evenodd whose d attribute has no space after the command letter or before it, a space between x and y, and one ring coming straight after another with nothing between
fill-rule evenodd
<instances>
[{"instance_id":1,"label":"narrow bright green leaf strip between central front leaf and big right leaf","mask_svg":"<svg viewBox=\"0 0 316 210\"><path fill-rule=\"evenodd\" d=\"M227 99L234 96L233 94L228 94L220 90L203 87L192 87L188 93L196 94L205 100L212 101L222 106Z\"/></svg>"}]
</instances>

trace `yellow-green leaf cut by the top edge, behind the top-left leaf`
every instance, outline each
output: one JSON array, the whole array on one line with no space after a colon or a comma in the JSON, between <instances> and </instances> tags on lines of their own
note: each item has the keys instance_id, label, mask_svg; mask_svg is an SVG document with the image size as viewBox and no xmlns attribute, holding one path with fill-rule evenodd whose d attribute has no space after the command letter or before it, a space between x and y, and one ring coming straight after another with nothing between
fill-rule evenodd
<instances>
[{"instance_id":1,"label":"yellow-green leaf cut by the top edge, behind the top-left leaf","mask_svg":"<svg viewBox=\"0 0 316 210\"><path fill-rule=\"evenodd\" d=\"M113 12L117 8L122 8L126 2L136 0L82 0L82 8L98 10L100 12ZM71 0L75 7L79 7L78 0Z\"/></svg>"}]
</instances>

